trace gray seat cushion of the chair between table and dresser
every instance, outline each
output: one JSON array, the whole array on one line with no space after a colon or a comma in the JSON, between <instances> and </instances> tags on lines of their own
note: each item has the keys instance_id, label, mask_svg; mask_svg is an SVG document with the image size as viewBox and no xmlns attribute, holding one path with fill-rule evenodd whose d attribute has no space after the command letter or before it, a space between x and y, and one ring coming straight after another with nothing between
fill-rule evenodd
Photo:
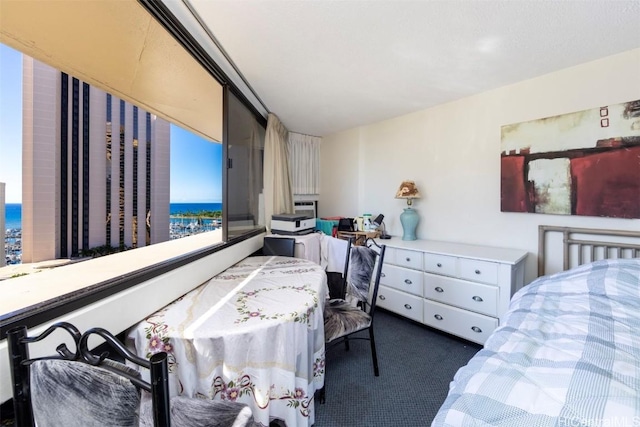
<instances>
[{"instance_id":1,"label":"gray seat cushion of the chair between table and dresser","mask_svg":"<svg viewBox=\"0 0 640 427\"><path fill-rule=\"evenodd\" d=\"M371 316L343 300L332 300L324 308L324 338L331 342L371 325Z\"/></svg>"}]
</instances>

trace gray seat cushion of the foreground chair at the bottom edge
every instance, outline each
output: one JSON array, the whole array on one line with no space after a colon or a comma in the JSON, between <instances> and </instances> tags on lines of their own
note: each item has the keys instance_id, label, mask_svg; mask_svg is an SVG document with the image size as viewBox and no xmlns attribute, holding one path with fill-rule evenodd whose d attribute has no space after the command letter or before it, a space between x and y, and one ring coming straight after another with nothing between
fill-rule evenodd
<instances>
[{"instance_id":1,"label":"gray seat cushion of the foreground chair at the bottom edge","mask_svg":"<svg viewBox=\"0 0 640 427\"><path fill-rule=\"evenodd\" d=\"M251 408L238 402L172 397L171 427L249 427L256 425ZM152 427L151 399L140 407L140 427Z\"/></svg>"}]
</instances>

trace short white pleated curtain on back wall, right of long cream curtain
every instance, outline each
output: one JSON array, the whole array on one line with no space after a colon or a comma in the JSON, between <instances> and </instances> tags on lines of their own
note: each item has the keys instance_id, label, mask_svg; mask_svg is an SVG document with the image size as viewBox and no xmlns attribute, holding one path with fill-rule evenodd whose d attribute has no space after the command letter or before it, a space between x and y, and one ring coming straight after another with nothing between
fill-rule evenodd
<instances>
[{"instance_id":1,"label":"short white pleated curtain on back wall, right of long cream curtain","mask_svg":"<svg viewBox=\"0 0 640 427\"><path fill-rule=\"evenodd\" d=\"M289 133L289 167L293 194L320 194L320 142L322 138Z\"/></svg>"}]
</instances>

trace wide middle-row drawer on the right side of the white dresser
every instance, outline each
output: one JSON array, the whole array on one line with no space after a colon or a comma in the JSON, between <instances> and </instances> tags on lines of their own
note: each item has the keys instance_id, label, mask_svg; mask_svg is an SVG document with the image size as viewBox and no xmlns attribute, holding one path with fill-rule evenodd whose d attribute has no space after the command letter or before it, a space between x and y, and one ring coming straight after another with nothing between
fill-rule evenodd
<instances>
[{"instance_id":1,"label":"wide middle-row drawer on the right side of the white dresser","mask_svg":"<svg viewBox=\"0 0 640 427\"><path fill-rule=\"evenodd\" d=\"M497 286L424 273L424 296L445 304L498 317Z\"/></svg>"}]
</instances>

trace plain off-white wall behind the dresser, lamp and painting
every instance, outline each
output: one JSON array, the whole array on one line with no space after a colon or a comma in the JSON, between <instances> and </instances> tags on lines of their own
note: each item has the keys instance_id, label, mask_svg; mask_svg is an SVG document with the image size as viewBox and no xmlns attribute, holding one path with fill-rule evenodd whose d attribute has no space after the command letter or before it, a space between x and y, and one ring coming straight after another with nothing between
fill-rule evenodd
<instances>
[{"instance_id":1,"label":"plain off-white wall behind the dresser, lamp and painting","mask_svg":"<svg viewBox=\"0 0 640 427\"><path fill-rule=\"evenodd\" d=\"M500 127L640 99L640 49L427 110L324 137L320 216L383 213L402 235L403 179L423 198L418 238L529 251L537 275L538 225L640 230L640 220L500 212Z\"/></svg>"}]
</instances>

